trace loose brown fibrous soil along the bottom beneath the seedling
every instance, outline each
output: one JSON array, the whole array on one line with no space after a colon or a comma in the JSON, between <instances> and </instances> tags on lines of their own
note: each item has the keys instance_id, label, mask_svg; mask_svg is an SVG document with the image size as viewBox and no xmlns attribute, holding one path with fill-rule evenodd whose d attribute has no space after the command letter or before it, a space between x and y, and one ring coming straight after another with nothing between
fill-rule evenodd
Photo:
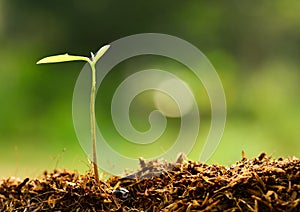
<instances>
[{"instance_id":1,"label":"loose brown fibrous soil along the bottom beneath the seedling","mask_svg":"<svg viewBox=\"0 0 300 212\"><path fill-rule=\"evenodd\" d=\"M300 211L299 158L260 156L230 167L141 160L130 177L96 182L72 171L0 181L0 211ZM157 168L158 167L158 168ZM139 178L135 178L138 176Z\"/></svg>"}]
</instances>

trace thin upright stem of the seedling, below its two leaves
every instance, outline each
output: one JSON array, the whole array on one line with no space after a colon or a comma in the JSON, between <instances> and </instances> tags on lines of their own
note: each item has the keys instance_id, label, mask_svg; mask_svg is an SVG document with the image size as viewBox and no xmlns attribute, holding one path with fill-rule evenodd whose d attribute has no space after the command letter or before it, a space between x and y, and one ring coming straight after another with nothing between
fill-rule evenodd
<instances>
[{"instance_id":1,"label":"thin upright stem of the seedling, below its two leaves","mask_svg":"<svg viewBox=\"0 0 300 212\"><path fill-rule=\"evenodd\" d=\"M90 62L92 69L92 87L91 87L91 99L90 99L90 116L91 116L91 136L93 145L93 168L94 175L97 182L99 182L99 173L97 165L97 144L96 144L96 123L95 123L95 93L96 93L96 68L94 61Z\"/></svg>"}]
</instances>

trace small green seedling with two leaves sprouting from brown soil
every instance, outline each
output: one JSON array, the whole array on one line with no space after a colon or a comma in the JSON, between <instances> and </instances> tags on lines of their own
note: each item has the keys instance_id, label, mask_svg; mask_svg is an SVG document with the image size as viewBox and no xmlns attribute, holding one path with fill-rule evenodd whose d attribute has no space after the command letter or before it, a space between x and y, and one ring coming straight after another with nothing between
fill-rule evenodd
<instances>
[{"instance_id":1,"label":"small green seedling with two leaves sprouting from brown soil","mask_svg":"<svg viewBox=\"0 0 300 212\"><path fill-rule=\"evenodd\" d=\"M90 98L90 119L91 119L91 138L93 149L93 168L94 175L97 182L99 182L99 173L97 165L97 151L96 151L96 117L95 117L95 94L96 94L96 63L109 49L110 45L103 46L95 55L91 52L91 58L84 56L76 56L69 54L55 55L45 57L37 62L37 64L43 63L60 63L69 61L86 61L89 63L92 71L92 85L91 85L91 98Z\"/></svg>"}]
</instances>

